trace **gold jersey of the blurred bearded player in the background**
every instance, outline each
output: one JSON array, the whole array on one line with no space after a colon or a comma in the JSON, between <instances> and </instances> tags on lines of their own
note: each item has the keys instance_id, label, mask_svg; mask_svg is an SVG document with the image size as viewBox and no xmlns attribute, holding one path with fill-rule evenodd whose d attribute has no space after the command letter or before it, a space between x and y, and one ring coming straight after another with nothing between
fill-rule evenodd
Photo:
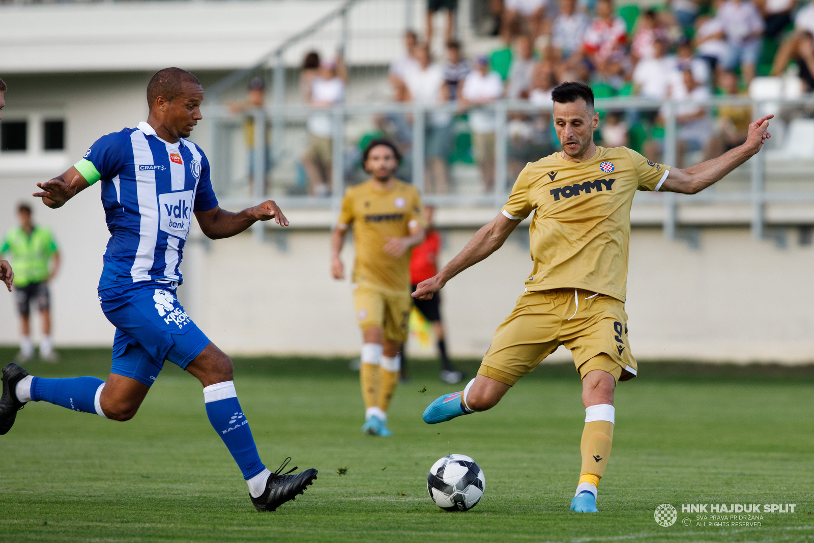
<instances>
[{"instance_id":1,"label":"gold jersey of the blurred bearded player in the background","mask_svg":"<svg viewBox=\"0 0 814 543\"><path fill-rule=\"evenodd\" d=\"M391 190L380 190L372 181L352 186L342 199L338 226L344 229L351 223L356 244L353 282L390 291L408 290L410 252L393 258L383 247L387 238L403 238L411 226L424 226L418 190L401 181Z\"/></svg>"}]
</instances>

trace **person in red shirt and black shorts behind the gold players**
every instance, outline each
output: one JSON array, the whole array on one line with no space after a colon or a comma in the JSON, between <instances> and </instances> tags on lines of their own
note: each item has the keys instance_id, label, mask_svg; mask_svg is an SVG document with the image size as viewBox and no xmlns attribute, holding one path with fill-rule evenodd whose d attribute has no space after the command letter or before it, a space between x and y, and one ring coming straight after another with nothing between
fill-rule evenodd
<instances>
[{"instance_id":1,"label":"person in red shirt and black shorts behind the gold players","mask_svg":"<svg viewBox=\"0 0 814 543\"><path fill-rule=\"evenodd\" d=\"M413 255L409 261L410 282L413 284L413 291L416 285L438 273L438 253L441 251L441 236L432 223L432 216L435 208L431 205L424 206L424 218L427 221L427 237L421 244L413 247ZM427 321L431 322L432 330L435 332L435 345L438 347L438 355L441 362L440 379L444 383L455 384L463 380L463 374L455 369L452 362L447 357L447 344L444 333L444 322L441 322L440 304L441 299L436 292L430 300L413 299L413 304L418 312ZM409 379L406 374L407 365L406 346L401 351L401 379Z\"/></svg>"}]
</instances>

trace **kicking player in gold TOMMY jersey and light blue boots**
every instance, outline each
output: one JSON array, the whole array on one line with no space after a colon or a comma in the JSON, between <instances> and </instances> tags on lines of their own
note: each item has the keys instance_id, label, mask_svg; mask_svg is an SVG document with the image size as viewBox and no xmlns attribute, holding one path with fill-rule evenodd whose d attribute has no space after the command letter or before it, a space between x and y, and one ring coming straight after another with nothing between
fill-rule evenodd
<instances>
[{"instance_id":1,"label":"kicking player in gold TOMMY jersey and light blue boots","mask_svg":"<svg viewBox=\"0 0 814 543\"><path fill-rule=\"evenodd\" d=\"M571 510L597 512L597 486L610 456L619 381L636 376L624 312L630 207L636 190L694 194L755 155L770 137L771 115L749 125L746 142L687 169L654 164L627 147L593 143L599 116L588 85L554 88L554 127L562 151L526 165L501 213L439 274L418 284L427 300L464 269L497 251L532 211L534 266L514 311L497 327L478 375L424 412L435 424L491 409L554 349L571 350L582 379L582 469Z\"/></svg>"}]
</instances>

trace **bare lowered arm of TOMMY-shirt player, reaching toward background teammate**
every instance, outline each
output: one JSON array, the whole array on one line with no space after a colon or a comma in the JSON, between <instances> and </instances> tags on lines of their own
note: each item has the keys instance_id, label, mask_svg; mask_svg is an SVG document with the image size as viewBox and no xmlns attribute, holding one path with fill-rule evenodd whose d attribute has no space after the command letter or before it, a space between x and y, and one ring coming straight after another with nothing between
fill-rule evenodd
<instances>
[{"instance_id":1,"label":"bare lowered arm of TOMMY-shirt player, reaching toward background teammate","mask_svg":"<svg viewBox=\"0 0 814 543\"><path fill-rule=\"evenodd\" d=\"M520 224L523 219L510 219L500 213L492 219L488 225L484 226L472 236L469 243L462 252L459 252L448 265L444 266L435 277L418 283L413 293L418 300L430 300L433 292L440 291L447 284L449 279L460 274L464 269L484 260L492 252L497 251L505 243L509 234Z\"/></svg>"}]
</instances>

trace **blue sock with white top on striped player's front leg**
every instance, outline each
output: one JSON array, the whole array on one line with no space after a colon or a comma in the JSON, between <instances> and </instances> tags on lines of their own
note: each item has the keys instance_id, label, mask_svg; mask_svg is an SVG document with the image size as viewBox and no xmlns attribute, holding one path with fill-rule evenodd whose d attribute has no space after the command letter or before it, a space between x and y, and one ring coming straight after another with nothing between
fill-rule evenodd
<instances>
[{"instance_id":1,"label":"blue sock with white top on striped player's front leg","mask_svg":"<svg viewBox=\"0 0 814 543\"><path fill-rule=\"evenodd\" d=\"M204 387L204 401L209 422L232 453L234 462L238 462L243 479L251 479L264 471L252 431L240 409L238 394L234 392L234 381Z\"/></svg>"}]
</instances>

